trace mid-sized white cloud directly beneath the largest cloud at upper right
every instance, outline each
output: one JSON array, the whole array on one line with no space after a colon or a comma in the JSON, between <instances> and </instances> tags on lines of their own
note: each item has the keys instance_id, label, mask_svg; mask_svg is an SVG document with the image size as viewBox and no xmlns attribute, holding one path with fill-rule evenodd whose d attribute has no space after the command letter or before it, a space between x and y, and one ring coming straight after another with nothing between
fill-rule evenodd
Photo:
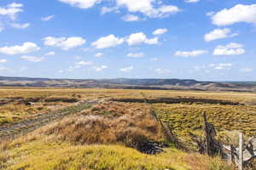
<instances>
[{"instance_id":1,"label":"mid-sized white cloud directly beneath the largest cloud at upper right","mask_svg":"<svg viewBox=\"0 0 256 170\"><path fill-rule=\"evenodd\" d=\"M226 37L236 37L237 33L231 33L229 28L215 29L205 35L205 41L211 42L213 40L222 39Z\"/></svg>"}]
</instances>

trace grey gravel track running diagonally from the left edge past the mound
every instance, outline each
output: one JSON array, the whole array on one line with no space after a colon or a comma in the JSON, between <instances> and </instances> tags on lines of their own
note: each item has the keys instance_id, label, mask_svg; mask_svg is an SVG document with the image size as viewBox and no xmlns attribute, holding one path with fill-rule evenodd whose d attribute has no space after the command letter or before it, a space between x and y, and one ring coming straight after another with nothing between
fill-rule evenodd
<instances>
[{"instance_id":1,"label":"grey gravel track running diagonally from the left edge past the mound","mask_svg":"<svg viewBox=\"0 0 256 170\"><path fill-rule=\"evenodd\" d=\"M0 140L7 137L14 138L16 136L32 132L39 127L43 127L49 122L54 122L55 120L61 119L65 116L83 111L84 109L89 108L91 105L95 105L97 102L97 100L79 102L76 105L72 105L64 109L50 111L45 114L38 114L37 116L33 116L25 121L0 127Z\"/></svg>"}]
</instances>

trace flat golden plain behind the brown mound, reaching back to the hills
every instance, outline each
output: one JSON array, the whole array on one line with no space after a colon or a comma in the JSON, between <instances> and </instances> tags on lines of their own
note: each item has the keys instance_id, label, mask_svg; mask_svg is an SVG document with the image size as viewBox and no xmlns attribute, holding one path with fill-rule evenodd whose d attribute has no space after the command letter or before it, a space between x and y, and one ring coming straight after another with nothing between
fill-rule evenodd
<instances>
[{"instance_id":1,"label":"flat golden plain behind the brown mound, reaching back to the hills","mask_svg":"<svg viewBox=\"0 0 256 170\"><path fill-rule=\"evenodd\" d=\"M243 130L256 135L256 94L251 93L81 88L1 88L0 92L2 126L88 99L112 99L137 105L146 99L177 133L200 131L201 113L206 112L219 131Z\"/></svg>"}]
</instances>

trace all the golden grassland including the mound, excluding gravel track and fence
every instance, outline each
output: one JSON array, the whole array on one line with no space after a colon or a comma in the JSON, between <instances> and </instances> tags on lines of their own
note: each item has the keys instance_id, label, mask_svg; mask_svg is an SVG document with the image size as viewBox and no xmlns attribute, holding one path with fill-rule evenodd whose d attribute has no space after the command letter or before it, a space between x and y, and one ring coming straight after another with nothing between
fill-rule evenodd
<instances>
[{"instance_id":1,"label":"all the golden grassland including the mound, excluding gravel track and fence","mask_svg":"<svg viewBox=\"0 0 256 170\"><path fill-rule=\"evenodd\" d=\"M7 129L15 133L12 128L17 124L41 122L44 116L61 119L50 119L34 127L38 130L33 133L2 141L0 169L233 169L218 157L175 149L150 111L187 144L191 144L189 133L202 133L202 112L219 136L226 130L256 136L256 94L80 88L2 88L0 92L2 133ZM99 102L64 114L65 108L90 100ZM148 143L158 144L156 150L145 149ZM165 151L143 154L158 150Z\"/></svg>"}]
</instances>

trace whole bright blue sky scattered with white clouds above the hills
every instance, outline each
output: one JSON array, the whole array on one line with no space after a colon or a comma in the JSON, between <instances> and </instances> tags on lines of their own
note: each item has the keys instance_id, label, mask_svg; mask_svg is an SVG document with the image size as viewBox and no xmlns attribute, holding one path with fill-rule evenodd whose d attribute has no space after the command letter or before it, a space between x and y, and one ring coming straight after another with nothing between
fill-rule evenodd
<instances>
[{"instance_id":1,"label":"whole bright blue sky scattered with white clouds above the hills","mask_svg":"<svg viewBox=\"0 0 256 170\"><path fill-rule=\"evenodd\" d=\"M255 0L1 0L0 75L256 81Z\"/></svg>"}]
</instances>

